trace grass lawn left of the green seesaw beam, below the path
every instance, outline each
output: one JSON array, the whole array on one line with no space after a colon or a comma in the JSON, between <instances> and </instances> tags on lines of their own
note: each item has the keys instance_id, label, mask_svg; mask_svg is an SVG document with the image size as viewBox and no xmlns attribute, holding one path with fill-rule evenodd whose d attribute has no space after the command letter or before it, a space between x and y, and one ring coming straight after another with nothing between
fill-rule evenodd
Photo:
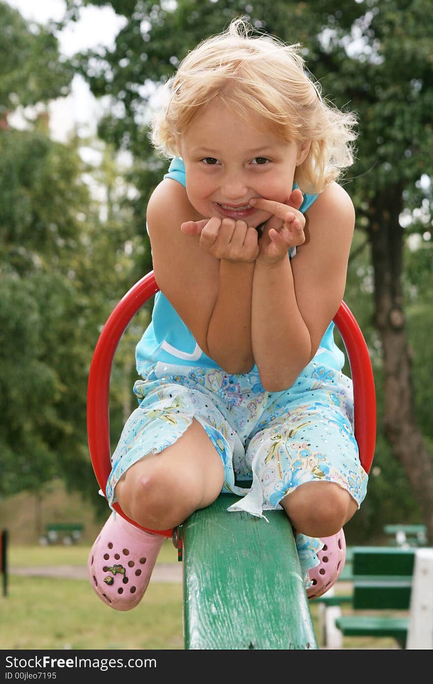
<instances>
[{"instance_id":1,"label":"grass lawn left of the green seesaw beam, below the path","mask_svg":"<svg viewBox=\"0 0 433 684\"><path fill-rule=\"evenodd\" d=\"M0 598L2 649L183 648L182 586L150 583L133 610L111 610L86 580L12 575Z\"/></svg>"}]
</instances>

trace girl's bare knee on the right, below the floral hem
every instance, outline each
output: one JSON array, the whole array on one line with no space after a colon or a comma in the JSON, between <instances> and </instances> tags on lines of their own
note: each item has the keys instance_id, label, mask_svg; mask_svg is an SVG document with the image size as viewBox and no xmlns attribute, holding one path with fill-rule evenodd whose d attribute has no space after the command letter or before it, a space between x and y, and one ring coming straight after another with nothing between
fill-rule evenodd
<instances>
[{"instance_id":1,"label":"girl's bare knee on the right, below the floral hem","mask_svg":"<svg viewBox=\"0 0 433 684\"><path fill-rule=\"evenodd\" d=\"M310 537L337 534L358 508L349 492L332 482L300 485L281 504L296 531Z\"/></svg>"}]
</instances>

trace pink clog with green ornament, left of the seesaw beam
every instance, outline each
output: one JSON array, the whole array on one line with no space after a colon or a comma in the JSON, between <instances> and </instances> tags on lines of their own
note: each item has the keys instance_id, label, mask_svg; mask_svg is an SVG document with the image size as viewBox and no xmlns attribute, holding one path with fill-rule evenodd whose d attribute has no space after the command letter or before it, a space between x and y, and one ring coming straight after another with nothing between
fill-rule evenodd
<instances>
[{"instance_id":1,"label":"pink clog with green ornament, left of the seesaw beam","mask_svg":"<svg viewBox=\"0 0 433 684\"><path fill-rule=\"evenodd\" d=\"M163 540L163 535L145 532L111 513L88 560L90 583L101 601L116 610L140 603Z\"/></svg>"}]
</instances>

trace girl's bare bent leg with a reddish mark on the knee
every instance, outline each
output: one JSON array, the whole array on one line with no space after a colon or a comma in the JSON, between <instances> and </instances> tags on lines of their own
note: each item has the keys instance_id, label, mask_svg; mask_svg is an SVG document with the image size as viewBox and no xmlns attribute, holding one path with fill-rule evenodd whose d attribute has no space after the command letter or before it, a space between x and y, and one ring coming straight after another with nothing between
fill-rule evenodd
<instances>
[{"instance_id":1,"label":"girl's bare bent leg with a reddish mark on the knee","mask_svg":"<svg viewBox=\"0 0 433 684\"><path fill-rule=\"evenodd\" d=\"M215 501L223 484L218 451L193 420L173 445L131 466L116 485L116 497L142 527L171 529Z\"/></svg>"}]
</instances>

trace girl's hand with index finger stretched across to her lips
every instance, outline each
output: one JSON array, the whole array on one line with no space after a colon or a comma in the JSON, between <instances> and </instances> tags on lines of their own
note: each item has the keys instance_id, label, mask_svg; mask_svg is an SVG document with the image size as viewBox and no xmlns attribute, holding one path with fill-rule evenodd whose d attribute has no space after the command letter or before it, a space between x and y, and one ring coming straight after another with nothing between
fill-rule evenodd
<instances>
[{"instance_id":1,"label":"girl's hand with index finger stretched across to her lips","mask_svg":"<svg viewBox=\"0 0 433 684\"><path fill-rule=\"evenodd\" d=\"M282 204L263 198L250 200L252 206L272 214L264 224L259 239L259 261L266 265L273 265L287 257L289 248L302 245L305 241L305 217L298 211L302 205L300 190L293 190L286 202Z\"/></svg>"}]
</instances>

